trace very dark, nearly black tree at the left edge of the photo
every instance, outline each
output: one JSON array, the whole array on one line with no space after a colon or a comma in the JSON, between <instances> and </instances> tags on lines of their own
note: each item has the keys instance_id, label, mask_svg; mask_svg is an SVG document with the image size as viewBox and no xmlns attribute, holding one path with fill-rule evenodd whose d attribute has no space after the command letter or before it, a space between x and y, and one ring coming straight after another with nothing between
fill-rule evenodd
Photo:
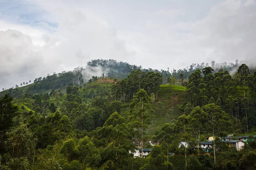
<instances>
[{"instance_id":1,"label":"very dark, nearly black tree at the left edge of the photo","mask_svg":"<svg viewBox=\"0 0 256 170\"><path fill-rule=\"evenodd\" d=\"M18 107L12 105L12 100L9 94L0 97L0 136L3 130L8 130L12 126L12 119L17 116Z\"/></svg>"}]
</instances>

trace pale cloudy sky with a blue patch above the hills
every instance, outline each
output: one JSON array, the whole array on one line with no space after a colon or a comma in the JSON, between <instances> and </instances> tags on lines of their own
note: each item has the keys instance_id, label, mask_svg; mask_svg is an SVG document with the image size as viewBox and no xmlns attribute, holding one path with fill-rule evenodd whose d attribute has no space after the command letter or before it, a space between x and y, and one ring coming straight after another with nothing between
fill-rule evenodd
<instances>
[{"instance_id":1,"label":"pale cloudy sky with a blue patch above the hills","mask_svg":"<svg viewBox=\"0 0 256 170\"><path fill-rule=\"evenodd\" d=\"M0 0L0 89L115 59L256 60L256 0Z\"/></svg>"}]
</instances>

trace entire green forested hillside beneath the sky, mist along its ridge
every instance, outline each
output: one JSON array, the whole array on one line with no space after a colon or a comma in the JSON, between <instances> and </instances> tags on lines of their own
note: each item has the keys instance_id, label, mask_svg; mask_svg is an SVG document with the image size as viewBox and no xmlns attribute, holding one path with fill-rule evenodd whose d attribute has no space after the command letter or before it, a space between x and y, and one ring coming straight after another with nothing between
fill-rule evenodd
<instances>
[{"instance_id":1,"label":"entire green forested hillside beneath the sky, mist along its ridge","mask_svg":"<svg viewBox=\"0 0 256 170\"><path fill-rule=\"evenodd\" d=\"M0 170L56 169L255 170L255 68L97 59L3 88Z\"/></svg>"}]
</instances>

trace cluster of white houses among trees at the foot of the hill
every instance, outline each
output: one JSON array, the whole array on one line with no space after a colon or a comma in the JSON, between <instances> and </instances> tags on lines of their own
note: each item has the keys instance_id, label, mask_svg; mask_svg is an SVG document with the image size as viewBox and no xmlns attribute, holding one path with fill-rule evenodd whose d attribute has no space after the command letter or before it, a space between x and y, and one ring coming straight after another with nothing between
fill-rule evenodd
<instances>
[{"instance_id":1,"label":"cluster of white houses among trees at the foot of the hill","mask_svg":"<svg viewBox=\"0 0 256 170\"><path fill-rule=\"evenodd\" d=\"M236 147L236 150L242 149L244 146L244 143L247 143L247 140L249 139L250 136L228 136L228 137L223 137L221 138L221 141L224 143L229 144L230 147ZM256 137L256 136L253 136ZM210 148L213 147L213 136L207 136L206 141L200 142L201 148L206 152L210 152ZM236 139L236 140L232 140ZM151 142L150 140L148 141L152 146L155 144L154 142ZM158 142L156 144L159 144ZM188 143L186 142L180 142L179 147L181 145L184 145L185 147L188 146ZM151 149L149 148L143 148L143 157L147 156L151 152ZM138 147L137 150L134 151L134 157L140 156L141 153L141 147ZM172 155L172 154L170 154Z\"/></svg>"}]
</instances>

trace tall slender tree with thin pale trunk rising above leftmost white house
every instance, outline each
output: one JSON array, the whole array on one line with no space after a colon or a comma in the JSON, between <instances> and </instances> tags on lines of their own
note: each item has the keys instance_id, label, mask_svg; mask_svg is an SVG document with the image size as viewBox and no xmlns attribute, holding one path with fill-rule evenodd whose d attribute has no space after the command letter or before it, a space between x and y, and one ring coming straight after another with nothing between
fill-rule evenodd
<instances>
[{"instance_id":1,"label":"tall slender tree with thin pale trunk rising above leftmost white house","mask_svg":"<svg viewBox=\"0 0 256 170\"><path fill-rule=\"evenodd\" d=\"M136 129L136 138L139 140L140 146L142 147L141 157L143 155L143 135L150 124L150 113L152 112L151 107L150 97L143 89L134 96L134 99L130 104L131 123L129 125Z\"/></svg>"}]
</instances>

